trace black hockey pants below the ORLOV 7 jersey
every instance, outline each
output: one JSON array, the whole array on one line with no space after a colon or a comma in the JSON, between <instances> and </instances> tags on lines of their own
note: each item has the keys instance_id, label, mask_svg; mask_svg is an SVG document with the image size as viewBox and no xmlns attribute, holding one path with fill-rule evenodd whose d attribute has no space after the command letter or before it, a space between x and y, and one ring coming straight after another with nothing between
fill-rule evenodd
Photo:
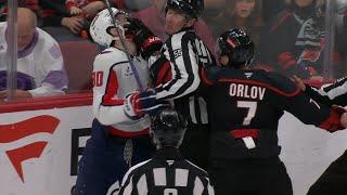
<instances>
[{"instance_id":1,"label":"black hockey pants below the ORLOV 7 jersey","mask_svg":"<svg viewBox=\"0 0 347 195\"><path fill-rule=\"evenodd\" d=\"M292 181L279 157L215 159L209 174L216 195L293 195Z\"/></svg>"}]
</instances>

